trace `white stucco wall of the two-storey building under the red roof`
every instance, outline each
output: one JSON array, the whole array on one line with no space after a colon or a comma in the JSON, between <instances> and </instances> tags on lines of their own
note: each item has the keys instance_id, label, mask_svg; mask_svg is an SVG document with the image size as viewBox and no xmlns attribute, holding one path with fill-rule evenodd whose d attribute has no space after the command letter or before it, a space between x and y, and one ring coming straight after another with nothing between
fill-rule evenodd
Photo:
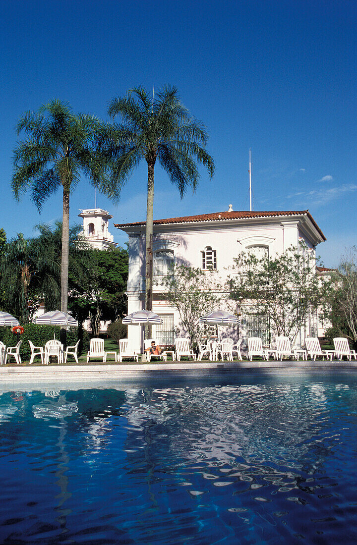
<instances>
[{"instance_id":1,"label":"white stucco wall of the two-storey building under the red roof","mask_svg":"<svg viewBox=\"0 0 357 545\"><path fill-rule=\"evenodd\" d=\"M128 227L129 234L129 278L128 313L144 308L145 291L145 227ZM172 225L155 225L153 237L154 255L157 249L173 249L176 264L202 267L202 251L210 246L216 250L217 276L225 281L232 274L233 258L252 246L265 246L269 255L283 253L289 246L298 246L304 240L314 256L314 245L320 240L313 236L313 226L305 218L294 216L257 217L246 221L207 221ZM159 282L160 284L160 282ZM176 310L166 304L159 293L162 287L153 290L153 311L158 314L174 314L174 325L179 325ZM155 296L156 294L156 296ZM234 305L233 305L234 306ZM243 331L240 331L240 334ZM237 330L227 328L227 334L237 338ZM136 350L142 349L142 327L130 326L128 336ZM222 329L222 335L225 331Z\"/></svg>"}]
</instances>

